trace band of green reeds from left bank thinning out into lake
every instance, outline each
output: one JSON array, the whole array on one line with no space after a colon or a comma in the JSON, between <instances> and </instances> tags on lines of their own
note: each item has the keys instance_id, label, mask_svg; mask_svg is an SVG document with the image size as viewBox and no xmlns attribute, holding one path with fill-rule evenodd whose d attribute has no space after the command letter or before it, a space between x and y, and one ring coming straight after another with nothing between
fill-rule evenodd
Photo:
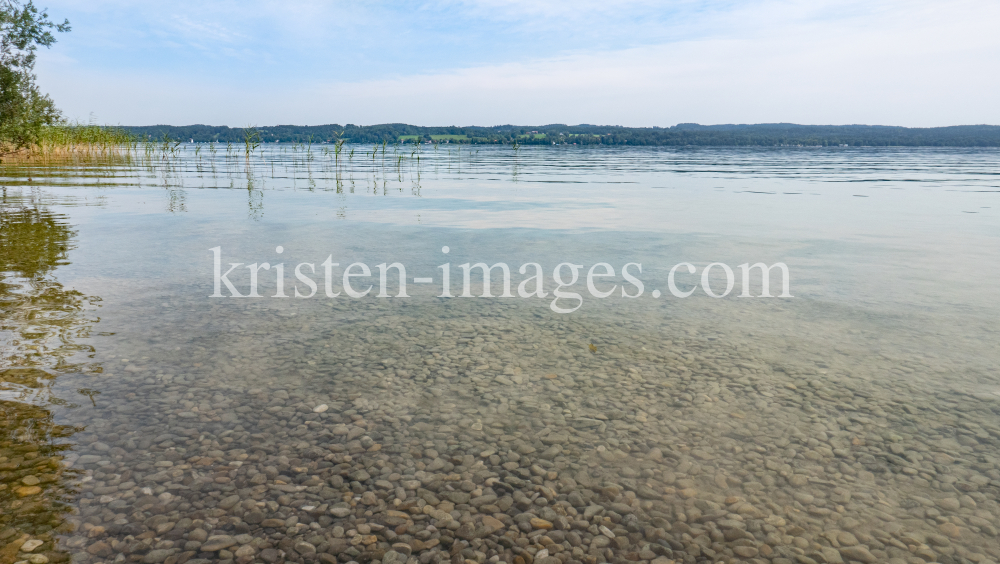
<instances>
[{"instance_id":1,"label":"band of green reeds from left bank thinning out into lake","mask_svg":"<svg viewBox=\"0 0 1000 564\"><path fill-rule=\"evenodd\" d=\"M160 175L162 186L171 189L183 187L185 172L192 171L199 179L214 180L216 187L224 186L220 180L228 180L226 184L230 186L234 182L242 184L242 177L245 176L248 189L260 190L269 172L270 180L290 181L293 187L297 180L303 179L302 175L307 178L310 189L316 186L316 180L329 182L328 186L333 188L331 185L335 185L338 193L345 191L344 182L347 181L353 193L355 177L363 175L366 184L372 184L372 193L378 190L383 195L387 193L389 182L402 183L406 176L414 179L414 189L419 191L422 175L430 172L424 170L428 163L433 166L435 174L439 165L442 171L457 170L458 173L464 172L462 166L478 166L475 153L470 151L462 155L463 147L456 147L455 151L441 151L439 144L434 143L434 152L430 148L425 151L419 139L409 147L408 143L381 140L373 143L368 151L367 147L349 143L341 132L329 145L318 146L315 152L312 151L313 144L311 138L280 146L265 144L253 125L243 128L241 139L235 142L187 144L167 135L162 138L143 135L140 138L120 127L63 123L45 128L36 146L6 155L0 150L0 158L5 168L7 164L14 168L24 167L23 176L29 178L42 174L36 170L39 167L50 165L56 168L83 166L94 170L104 167L100 170L107 171L109 177L115 176L116 171L124 170L125 175L135 179L139 178L141 169L148 173L148 178ZM516 157L521 150L520 143L515 141L512 145ZM392 155L388 154L390 146ZM406 151L410 154L406 155ZM239 158L240 153L243 153L243 159ZM516 158L513 161L516 178L518 162ZM316 180L314 175L318 175ZM104 176L97 178L100 182ZM143 183L141 180L136 182ZM177 204L171 209L175 208L180 210L183 206Z\"/></svg>"}]
</instances>

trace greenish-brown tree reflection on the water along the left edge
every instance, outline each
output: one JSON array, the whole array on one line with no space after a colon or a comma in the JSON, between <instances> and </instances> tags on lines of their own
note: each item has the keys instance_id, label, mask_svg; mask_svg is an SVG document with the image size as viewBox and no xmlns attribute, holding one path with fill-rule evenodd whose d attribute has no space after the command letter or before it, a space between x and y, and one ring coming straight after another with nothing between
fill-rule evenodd
<instances>
[{"instance_id":1,"label":"greenish-brown tree reflection on the water along the left edge","mask_svg":"<svg viewBox=\"0 0 1000 564\"><path fill-rule=\"evenodd\" d=\"M72 407L53 391L67 372L97 372L87 309L96 301L53 276L66 264L74 233L65 217L8 197L0 203L0 562L57 562L55 536L74 526L65 517L77 471L63 455L79 429L55 422L53 406ZM81 393L95 392L89 389Z\"/></svg>"}]
</instances>

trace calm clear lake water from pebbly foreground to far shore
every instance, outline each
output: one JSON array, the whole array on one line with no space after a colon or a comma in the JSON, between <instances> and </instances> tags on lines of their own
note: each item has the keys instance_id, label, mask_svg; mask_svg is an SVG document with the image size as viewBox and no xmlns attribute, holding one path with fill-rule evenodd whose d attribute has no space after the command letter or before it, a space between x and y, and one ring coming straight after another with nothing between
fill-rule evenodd
<instances>
[{"instance_id":1,"label":"calm clear lake water from pebbly foreground to far shore","mask_svg":"<svg viewBox=\"0 0 1000 564\"><path fill-rule=\"evenodd\" d=\"M2 165L3 562L1000 558L1000 152L331 151Z\"/></svg>"}]
</instances>

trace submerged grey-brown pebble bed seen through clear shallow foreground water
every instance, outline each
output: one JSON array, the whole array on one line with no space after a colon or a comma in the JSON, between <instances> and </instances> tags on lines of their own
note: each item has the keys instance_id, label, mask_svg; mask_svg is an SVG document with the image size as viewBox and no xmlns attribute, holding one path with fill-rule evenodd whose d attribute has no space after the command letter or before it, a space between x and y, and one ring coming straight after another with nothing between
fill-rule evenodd
<instances>
[{"instance_id":1,"label":"submerged grey-brown pebble bed seen through clear shallow foreground water","mask_svg":"<svg viewBox=\"0 0 1000 564\"><path fill-rule=\"evenodd\" d=\"M264 309L158 316L62 377L92 405L8 415L3 557L1000 559L1000 395L921 378L974 367L518 305ZM59 430L71 452L10 440Z\"/></svg>"}]
</instances>

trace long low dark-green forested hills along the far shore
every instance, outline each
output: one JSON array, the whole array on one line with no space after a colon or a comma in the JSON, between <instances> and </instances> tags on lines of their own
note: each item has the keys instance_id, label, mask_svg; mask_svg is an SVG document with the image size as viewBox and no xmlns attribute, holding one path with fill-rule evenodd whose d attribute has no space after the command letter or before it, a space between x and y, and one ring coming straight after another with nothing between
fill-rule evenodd
<instances>
[{"instance_id":1,"label":"long low dark-green forested hills along the far shore","mask_svg":"<svg viewBox=\"0 0 1000 564\"><path fill-rule=\"evenodd\" d=\"M211 125L129 126L142 138L197 142L243 142L243 128ZM909 128L883 125L698 125L621 127L613 125L498 125L492 127L420 127L383 125L277 125L258 127L264 142L440 143L523 145L660 145L660 146L840 146L851 147L1000 147L1000 126L958 125Z\"/></svg>"}]
</instances>

